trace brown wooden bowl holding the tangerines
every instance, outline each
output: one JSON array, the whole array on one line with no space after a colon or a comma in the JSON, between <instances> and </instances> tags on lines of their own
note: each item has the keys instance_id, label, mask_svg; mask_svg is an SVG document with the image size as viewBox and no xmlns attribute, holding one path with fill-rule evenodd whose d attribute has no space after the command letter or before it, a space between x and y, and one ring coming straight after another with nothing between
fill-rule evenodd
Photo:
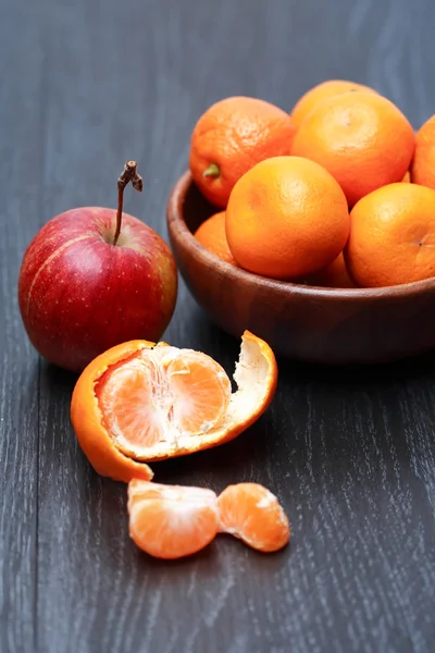
<instances>
[{"instance_id":1,"label":"brown wooden bowl holding the tangerines","mask_svg":"<svg viewBox=\"0 0 435 653\"><path fill-rule=\"evenodd\" d=\"M226 263L192 233L217 209L186 172L167 202L178 269L210 318L245 329L275 354L310 362L386 362L435 347L435 278L383 288L335 289L274 281Z\"/></svg>"}]
</instances>

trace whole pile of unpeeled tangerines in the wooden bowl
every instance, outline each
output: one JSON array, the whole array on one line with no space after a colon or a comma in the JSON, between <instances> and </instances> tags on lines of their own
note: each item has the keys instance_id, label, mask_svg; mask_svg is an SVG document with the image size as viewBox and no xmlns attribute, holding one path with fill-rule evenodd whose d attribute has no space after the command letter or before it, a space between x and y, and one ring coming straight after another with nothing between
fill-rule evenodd
<instances>
[{"instance_id":1,"label":"whole pile of unpeeled tangerines in the wooden bowl","mask_svg":"<svg viewBox=\"0 0 435 653\"><path fill-rule=\"evenodd\" d=\"M372 88L324 82L290 113L221 100L194 128L190 171L221 209L195 235L232 264L330 287L435 275L435 115L415 134Z\"/></svg>"}]
</instances>

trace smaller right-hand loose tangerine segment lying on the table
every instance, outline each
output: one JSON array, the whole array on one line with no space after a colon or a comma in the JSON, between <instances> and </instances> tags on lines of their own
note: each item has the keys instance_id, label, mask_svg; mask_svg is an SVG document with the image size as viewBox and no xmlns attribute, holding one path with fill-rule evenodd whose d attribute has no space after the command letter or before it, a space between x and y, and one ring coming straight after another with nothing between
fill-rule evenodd
<instances>
[{"instance_id":1,"label":"smaller right-hand loose tangerine segment lying on the table","mask_svg":"<svg viewBox=\"0 0 435 653\"><path fill-rule=\"evenodd\" d=\"M228 485L217 497L217 506L221 532L231 533L264 553L288 543L288 519L276 496L263 485Z\"/></svg>"}]
</instances>

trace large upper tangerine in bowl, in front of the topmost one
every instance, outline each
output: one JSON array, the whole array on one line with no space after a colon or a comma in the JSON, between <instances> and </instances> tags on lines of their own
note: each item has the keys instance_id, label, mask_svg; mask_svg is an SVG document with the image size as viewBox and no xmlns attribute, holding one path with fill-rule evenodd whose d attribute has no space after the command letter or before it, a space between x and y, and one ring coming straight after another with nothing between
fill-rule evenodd
<instances>
[{"instance_id":1,"label":"large upper tangerine in bowl, in front of the topmost one","mask_svg":"<svg viewBox=\"0 0 435 653\"><path fill-rule=\"evenodd\" d=\"M412 126L393 102L374 93L345 93L307 115L291 153L328 170L353 206L372 190L400 182L414 140Z\"/></svg>"}]
</instances>

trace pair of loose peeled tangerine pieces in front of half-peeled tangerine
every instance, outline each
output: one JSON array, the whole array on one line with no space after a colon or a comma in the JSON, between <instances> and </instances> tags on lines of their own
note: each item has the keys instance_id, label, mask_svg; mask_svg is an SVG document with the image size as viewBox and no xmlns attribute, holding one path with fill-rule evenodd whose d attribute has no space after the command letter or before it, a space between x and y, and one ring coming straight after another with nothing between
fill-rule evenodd
<instances>
[{"instance_id":1,"label":"pair of loose peeled tangerine pieces in front of half-peeled tangerine","mask_svg":"<svg viewBox=\"0 0 435 653\"><path fill-rule=\"evenodd\" d=\"M137 546L166 559L200 551L217 532L262 552L282 549L290 537L276 496L257 483L229 485L217 497L204 488L134 479L128 484L128 514L129 534Z\"/></svg>"}]
</instances>

